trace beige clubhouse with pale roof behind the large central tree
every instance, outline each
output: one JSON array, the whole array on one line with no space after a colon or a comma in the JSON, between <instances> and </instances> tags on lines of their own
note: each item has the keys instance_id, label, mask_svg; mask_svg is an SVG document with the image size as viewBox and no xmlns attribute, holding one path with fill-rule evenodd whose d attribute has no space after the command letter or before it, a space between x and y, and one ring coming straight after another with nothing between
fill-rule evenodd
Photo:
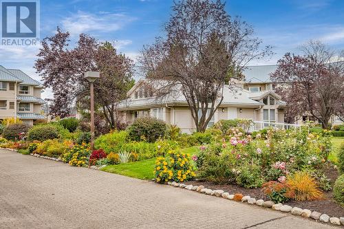
<instances>
[{"instance_id":1,"label":"beige clubhouse with pale roof behind the large central tree","mask_svg":"<svg viewBox=\"0 0 344 229\"><path fill-rule=\"evenodd\" d=\"M272 89L270 69L260 69L257 80L253 80L252 74L257 72L247 69L244 72L251 82L241 82L235 87L224 88L224 100L215 112L208 126L212 126L218 120L246 118L255 122L284 122L284 108L286 103ZM262 77L264 76L264 78ZM260 78L260 80L258 79ZM128 91L128 99L120 102L118 109L124 113L127 122L133 122L138 117L153 116L164 120L168 124L175 124L184 133L195 131L195 124L189 111L188 104L180 93L172 93L163 99L155 98L155 95L145 87L145 80L140 80Z\"/></svg>"}]
</instances>

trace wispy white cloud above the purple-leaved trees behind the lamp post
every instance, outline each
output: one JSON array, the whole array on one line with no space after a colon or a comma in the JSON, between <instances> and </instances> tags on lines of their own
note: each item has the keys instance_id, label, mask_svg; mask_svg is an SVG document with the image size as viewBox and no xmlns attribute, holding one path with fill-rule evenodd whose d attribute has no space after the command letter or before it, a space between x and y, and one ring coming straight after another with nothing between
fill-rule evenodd
<instances>
[{"instance_id":1,"label":"wispy white cloud above the purple-leaved trees behind the lamp post","mask_svg":"<svg viewBox=\"0 0 344 229\"><path fill-rule=\"evenodd\" d=\"M100 16L79 10L75 15L63 19L62 25L73 36L87 32L114 32L133 20L134 17L126 14L102 12Z\"/></svg>"}]
</instances>

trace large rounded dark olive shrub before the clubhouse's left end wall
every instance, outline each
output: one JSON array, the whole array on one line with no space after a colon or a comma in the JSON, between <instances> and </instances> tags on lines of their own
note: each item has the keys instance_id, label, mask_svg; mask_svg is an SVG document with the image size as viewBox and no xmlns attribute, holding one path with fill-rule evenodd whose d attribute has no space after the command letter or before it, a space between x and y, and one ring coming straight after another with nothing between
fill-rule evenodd
<instances>
[{"instance_id":1,"label":"large rounded dark olive shrub before the clubhouse's left end wall","mask_svg":"<svg viewBox=\"0 0 344 229\"><path fill-rule=\"evenodd\" d=\"M167 126L164 121L148 116L137 118L127 130L131 140L155 142L158 138L164 137Z\"/></svg>"}]
</instances>

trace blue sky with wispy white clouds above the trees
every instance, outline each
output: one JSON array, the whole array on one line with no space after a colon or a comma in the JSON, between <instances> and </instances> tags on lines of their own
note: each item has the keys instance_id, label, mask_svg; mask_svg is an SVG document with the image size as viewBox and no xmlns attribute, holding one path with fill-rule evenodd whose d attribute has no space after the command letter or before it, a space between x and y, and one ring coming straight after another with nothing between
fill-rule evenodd
<instances>
[{"instance_id":1,"label":"blue sky with wispy white clouds above the trees","mask_svg":"<svg viewBox=\"0 0 344 229\"><path fill-rule=\"evenodd\" d=\"M143 45L163 36L173 0L41 0L40 39L52 36L57 26L69 31L72 43L86 33L99 41L110 41L134 61ZM274 65L286 52L297 54L310 39L344 50L344 1L342 0L228 0L226 11L239 16L255 30L275 55L250 65ZM0 65L18 68L36 80L36 46L0 45ZM43 98L52 92L45 89Z\"/></svg>"}]
</instances>

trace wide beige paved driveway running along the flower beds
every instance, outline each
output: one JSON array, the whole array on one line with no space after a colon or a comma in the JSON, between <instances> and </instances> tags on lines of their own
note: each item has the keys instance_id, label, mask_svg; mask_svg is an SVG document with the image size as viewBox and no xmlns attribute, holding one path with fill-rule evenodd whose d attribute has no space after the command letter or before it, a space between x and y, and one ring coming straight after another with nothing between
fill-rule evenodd
<instances>
[{"instance_id":1,"label":"wide beige paved driveway running along the flower beds","mask_svg":"<svg viewBox=\"0 0 344 229\"><path fill-rule=\"evenodd\" d=\"M258 206L0 150L0 228L333 228Z\"/></svg>"}]
</instances>

